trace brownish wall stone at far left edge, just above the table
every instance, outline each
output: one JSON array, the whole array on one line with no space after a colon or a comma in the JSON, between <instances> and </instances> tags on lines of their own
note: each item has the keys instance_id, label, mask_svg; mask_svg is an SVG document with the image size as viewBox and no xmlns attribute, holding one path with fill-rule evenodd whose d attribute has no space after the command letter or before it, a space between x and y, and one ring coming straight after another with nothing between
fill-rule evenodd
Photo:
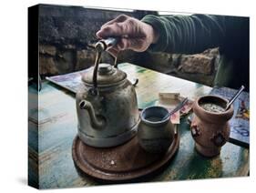
<instances>
[{"instance_id":1,"label":"brownish wall stone at far left edge, just above the table","mask_svg":"<svg viewBox=\"0 0 256 193\"><path fill-rule=\"evenodd\" d=\"M39 56L39 73L40 75L58 74L53 57L43 55Z\"/></svg>"}]
</instances>

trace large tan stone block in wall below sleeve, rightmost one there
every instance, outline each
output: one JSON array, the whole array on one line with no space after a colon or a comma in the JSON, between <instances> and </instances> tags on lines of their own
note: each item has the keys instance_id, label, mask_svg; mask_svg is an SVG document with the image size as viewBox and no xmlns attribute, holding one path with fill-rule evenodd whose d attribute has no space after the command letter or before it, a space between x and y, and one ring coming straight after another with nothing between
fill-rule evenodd
<instances>
[{"instance_id":1,"label":"large tan stone block in wall below sleeve, rightmost one there","mask_svg":"<svg viewBox=\"0 0 256 193\"><path fill-rule=\"evenodd\" d=\"M210 75L214 68L215 57L198 55L181 56L179 71L183 73Z\"/></svg>"}]
</instances>

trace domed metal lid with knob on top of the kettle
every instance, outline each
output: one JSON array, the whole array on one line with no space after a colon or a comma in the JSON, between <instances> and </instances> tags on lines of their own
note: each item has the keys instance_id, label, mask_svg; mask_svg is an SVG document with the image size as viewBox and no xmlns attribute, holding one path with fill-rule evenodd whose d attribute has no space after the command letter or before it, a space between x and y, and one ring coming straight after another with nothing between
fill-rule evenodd
<instances>
[{"instance_id":1,"label":"domed metal lid with knob on top of the kettle","mask_svg":"<svg viewBox=\"0 0 256 193\"><path fill-rule=\"evenodd\" d=\"M93 85L94 66L90 67L88 72L82 76L82 81L88 85ZM97 85L111 86L126 79L127 74L118 68L109 64L99 64L97 69Z\"/></svg>"}]
</instances>

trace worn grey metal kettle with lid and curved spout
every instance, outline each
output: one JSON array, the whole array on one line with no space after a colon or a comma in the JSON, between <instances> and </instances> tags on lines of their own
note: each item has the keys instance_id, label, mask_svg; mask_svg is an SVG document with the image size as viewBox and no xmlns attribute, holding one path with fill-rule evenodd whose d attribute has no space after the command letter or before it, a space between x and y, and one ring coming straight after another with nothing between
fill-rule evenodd
<instances>
[{"instance_id":1,"label":"worn grey metal kettle with lid and curved spout","mask_svg":"<svg viewBox=\"0 0 256 193\"><path fill-rule=\"evenodd\" d=\"M114 147L137 133L138 102L127 74L97 64L82 76L77 92L78 136L92 147Z\"/></svg>"}]
</instances>

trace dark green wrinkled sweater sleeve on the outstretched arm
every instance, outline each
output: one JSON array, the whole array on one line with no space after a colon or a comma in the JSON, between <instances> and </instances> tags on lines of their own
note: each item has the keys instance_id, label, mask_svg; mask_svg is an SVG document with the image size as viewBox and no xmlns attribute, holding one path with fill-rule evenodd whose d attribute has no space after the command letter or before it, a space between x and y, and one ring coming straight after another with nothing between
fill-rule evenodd
<instances>
[{"instance_id":1,"label":"dark green wrinkled sweater sleeve on the outstretched arm","mask_svg":"<svg viewBox=\"0 0 256 193\"><path fill-rule=\"evenodd\" d=\"M146 15L141 21L159 32L158 42L149 50L182 54L221 46L227 27L221 15Z\"/></svg>"}]
</instances>

